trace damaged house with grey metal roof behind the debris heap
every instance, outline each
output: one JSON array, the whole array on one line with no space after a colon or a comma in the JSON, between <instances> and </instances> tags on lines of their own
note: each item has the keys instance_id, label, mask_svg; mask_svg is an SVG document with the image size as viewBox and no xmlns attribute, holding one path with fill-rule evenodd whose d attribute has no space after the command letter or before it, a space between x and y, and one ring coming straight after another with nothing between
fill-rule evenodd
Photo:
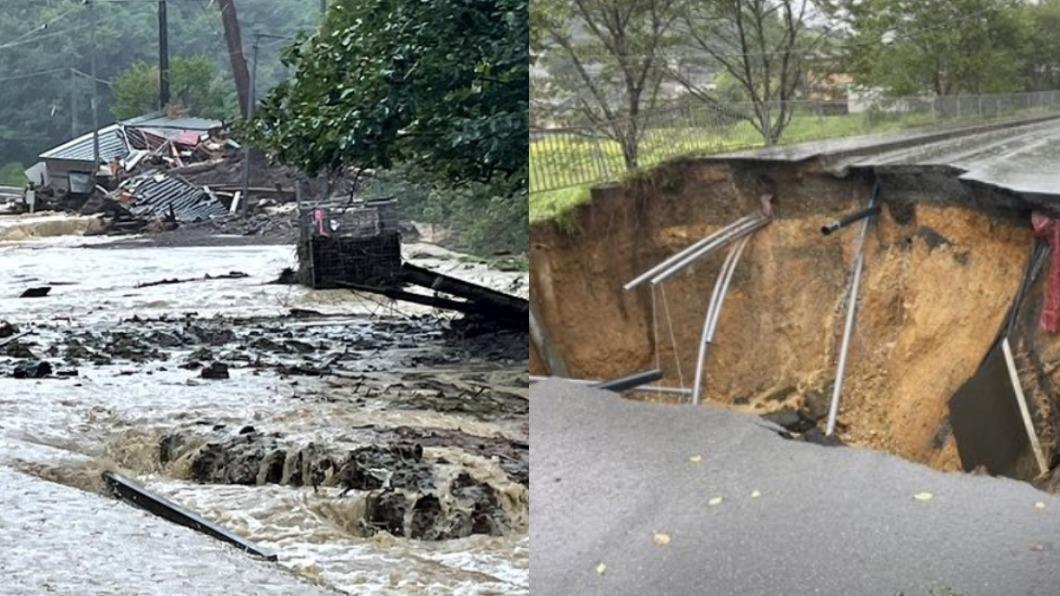
<instances>
[{"instance_id":1,"label":"damaged house with grey metal roof behind the debris heap","mask_svg":"<svg viewBox=\"0 0 1060 596\"><path fill-rule=\"evenodd\" d=\"M108 164L118 160L131 169L131 161L157 152L170 143L175 159L180 159L181 145L195 145L205 135L224 127L217 120L172 118L161 113L141 116L100 128L101 171L110 174ZM70 194L92 192L92 133L87 133L40 154L40 162L25 171L26 179L38 188L50 188Z\"/></svg>"}]
</instances>

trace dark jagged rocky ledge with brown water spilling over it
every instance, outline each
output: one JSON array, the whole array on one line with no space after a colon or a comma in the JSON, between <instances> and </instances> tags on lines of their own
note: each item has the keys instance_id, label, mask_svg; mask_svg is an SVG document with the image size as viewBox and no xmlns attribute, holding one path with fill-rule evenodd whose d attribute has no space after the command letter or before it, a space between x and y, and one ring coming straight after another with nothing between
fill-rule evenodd
<instances>
[{"instance_id":1,"label":"dark jagged rocky ledge with brown water spilling over it","mask_svg":"<svg viewBox=\"0 0 1060 596\"><path fill-rule=\"evenodd\" d=\"M186 469L199 483L283 484L314 491L318 486L342 487L340 498L363 493L357 527L367 536L386 531L417 540L453 540L511 531L497 489L469 472L454 474L444 459L425 458L418 443L346 452L316 443L293 448L281 444L277 434L244 426L173 433L162 437L158 454L163 467L188 462L174 469Z\"/></svg>"}]
</instances>

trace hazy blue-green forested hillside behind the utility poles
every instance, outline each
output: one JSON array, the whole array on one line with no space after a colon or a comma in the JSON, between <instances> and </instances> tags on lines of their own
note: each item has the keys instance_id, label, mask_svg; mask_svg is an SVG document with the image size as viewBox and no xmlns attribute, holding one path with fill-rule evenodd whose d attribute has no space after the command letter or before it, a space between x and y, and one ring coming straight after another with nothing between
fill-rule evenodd
<instances>
[{"instance_id":1,"label":"hazy blue-green forested hillside behind the utility poles","mask_svg":"<svg viewBox=\"0 0 1060 596\"><path fill-rule=\"evenodd\" d=\"M314 31L320 23L317 3L306 0L237 0L237 7L248 51L254 29L294 36L299 31ZM137 64L157 64L156 2L96 2L94 10L101 81L113 82ZM173 1L169 15L173 64L181 57L207 56L218 73L211 93L234 93L216 2ZM0 78L38 73L0 85L0 163L33 163L40 152L91 128L92 84L70 71L90 71L90 8L81 0L0 2L0 46L5 46L0 49ZM50 24L40 30L45 23ZM11 46L16 41L18 45ZM280 62L280 46L263 42L259 91L265 92L287 75ZM111 87L100 83L96 90L100 123L106 125L113 121ZM157 85L143 92L157 95ZM237 113L234 102L225 109L229 119Z\"/></svg>"}]
</instances>

